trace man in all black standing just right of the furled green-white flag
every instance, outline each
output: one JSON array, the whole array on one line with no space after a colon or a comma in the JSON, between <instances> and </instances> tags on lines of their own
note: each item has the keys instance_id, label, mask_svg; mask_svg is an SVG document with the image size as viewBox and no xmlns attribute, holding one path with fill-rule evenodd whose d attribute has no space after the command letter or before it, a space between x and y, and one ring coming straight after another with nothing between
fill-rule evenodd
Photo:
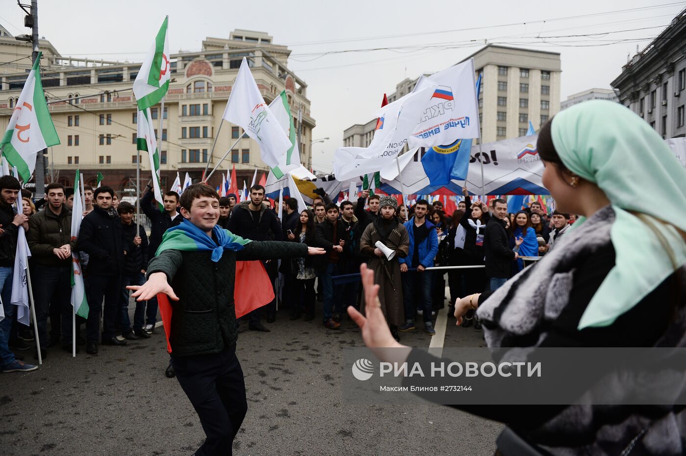
<instances>
[{"instance_id":1,"label":"man in all black standing just right of the furled green-white flag","mask_svg":"<svg viewBox=\"0 0 686 456\"><path fill-rule=\"evenodd\" d=\"M86 352L97 354L100 335L100 313L102 300L105 307L102 316L102 343L126 345L126 340L117 339L117 307L121 295L121 272L128 245L123 244L121 219L112 207L112 188L102 186L95 189L93 212L81 222L77 246L88 253L88 320L86 320Z\"/></svg>"}]
</instances>

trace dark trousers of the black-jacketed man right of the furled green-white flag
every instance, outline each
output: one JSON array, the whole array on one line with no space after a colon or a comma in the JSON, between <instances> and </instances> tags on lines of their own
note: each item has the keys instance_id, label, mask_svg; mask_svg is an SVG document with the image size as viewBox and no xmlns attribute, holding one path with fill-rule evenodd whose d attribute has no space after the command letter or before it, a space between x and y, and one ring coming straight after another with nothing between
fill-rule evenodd
<instances>
[{"instance_id":1,"label":"dark trousers of the black-jacketed man right of the furled green-white flag","mask_svg":"<svg viewBox=\"0 0 686 456\"><path fill-rule=\"evenodd\" d=\"M86 320L88 342L99 342L101 312L102 339L109 340L117 335L117 306L120 296L121 275L88 276L88 320Z\"/></svg>"}]
</instances>

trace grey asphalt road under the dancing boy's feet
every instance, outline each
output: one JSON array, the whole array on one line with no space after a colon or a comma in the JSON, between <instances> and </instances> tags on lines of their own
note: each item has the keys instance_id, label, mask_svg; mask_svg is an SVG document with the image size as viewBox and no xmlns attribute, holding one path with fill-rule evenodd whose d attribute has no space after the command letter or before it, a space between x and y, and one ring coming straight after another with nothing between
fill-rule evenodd
<instances>
[{"instance_id":1,"label":"grey asphalt road under the dancing boy's feet","mask_svg":"<svg viewBox=\"0 0 686 456\"><path fill-rule=\"evenodd\" d=\"M321 304L318 305L321 312ZM362 346L347 316L331 331L316 318L244 331L237 356L248 414L236 455L492 455L501 425L450 407L342 401L342 347ZM423 331L401 342L427 347ZM483 346L481 331L449 319L445 346ZM0 375L3 455L191 455L204 433L176 379L162 328L125 347L75 358L50 349L34 372ZM27 353L27 352L24 352ZM27 355L31 362L32 355Z\"/></svg>"}]
</instances>

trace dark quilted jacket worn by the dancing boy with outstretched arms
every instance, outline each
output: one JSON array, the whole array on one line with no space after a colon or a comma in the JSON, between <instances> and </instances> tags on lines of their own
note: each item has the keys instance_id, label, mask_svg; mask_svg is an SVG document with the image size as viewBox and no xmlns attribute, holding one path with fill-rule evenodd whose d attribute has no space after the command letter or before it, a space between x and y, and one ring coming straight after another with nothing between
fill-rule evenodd
<instances>
[{"instance_id":1,"label":"dark quilted jacket worn by the dancing boy with outstretched arms","mask_svg":"<svg viewBox=\"0 0 686 456\"><path fill-rule=\"evenodd\" d=\"M220 353L238 338L233 299L237 260L277 259L307 255L296 242L249 242L243 250L225 250L219 262L211 252L165 250L150 260L147 276L165 273L179 301L171 316L171 352L176 356Z\"/></svg>"}]
</instances>

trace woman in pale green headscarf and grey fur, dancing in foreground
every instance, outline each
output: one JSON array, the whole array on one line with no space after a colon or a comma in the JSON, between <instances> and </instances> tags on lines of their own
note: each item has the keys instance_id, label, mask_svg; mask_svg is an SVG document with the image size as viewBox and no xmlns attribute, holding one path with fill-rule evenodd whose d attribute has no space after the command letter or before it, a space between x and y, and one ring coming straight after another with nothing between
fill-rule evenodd
<instances>
[{"instance_id":1,"label":"woman in pale green headscarf and grey fur, dancing in foreground","mask_svg":"<svg viewBox=\"0 0 686 456\"><path fill-rule=\"evenodd\" d=\"M556 114L541 128L537 149L545 165L543 185L557 209L582 217L540 262L492 294L458 300L457 324L477 308L490 347L682 347L681 162L643 119L608 101L587 101ZM646 188L654 196L650 201ZM363 283L368 273L363 271ZM370 286L365 294L366 301L374 299ZM402 347L381 324L383 315L370 312L369 304L367 309L366 318L348 311L367 346ZM420 359L405 350L407 362ZM686 453L686 409L678 405L460 408L505 422L533 443L534 452Z\"/></svg>"}]
</instances>

